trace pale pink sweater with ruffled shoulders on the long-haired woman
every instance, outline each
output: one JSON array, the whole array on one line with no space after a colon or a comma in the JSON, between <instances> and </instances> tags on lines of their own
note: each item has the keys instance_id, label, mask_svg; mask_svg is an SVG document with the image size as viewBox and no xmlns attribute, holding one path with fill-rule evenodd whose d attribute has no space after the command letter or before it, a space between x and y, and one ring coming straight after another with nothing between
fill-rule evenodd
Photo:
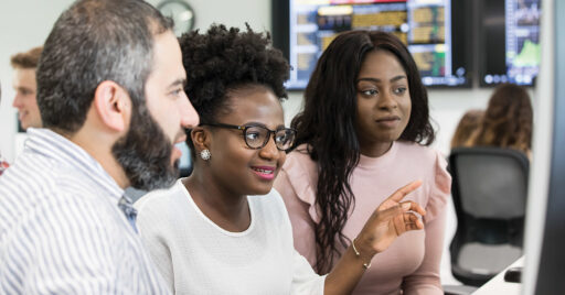
<instances>
[{"instance_id":1,"label":"pale pink sweater with ruffled shoulders on the long-haired woman","mask_svg":"<svg viewBox=\"0 0 565 295\"><path fill-rule=\"evenodd\" d=\"M287 156L275 188L287 206L292 223L295 247L316 264L315 223L317 165L305 153L306 145ZM351 177L355 207L343 228L353 240L372 211L393 192L408 182L423 185L409 194L427 215L424 230L401 236L391 247L373 258L373 265L361 278L353 294L444 294L439 281L445 208L450 194L451 176L445 159L435 150L406 142L394 142L380 157L361 155Z\"/></svg>"}]
</instances>

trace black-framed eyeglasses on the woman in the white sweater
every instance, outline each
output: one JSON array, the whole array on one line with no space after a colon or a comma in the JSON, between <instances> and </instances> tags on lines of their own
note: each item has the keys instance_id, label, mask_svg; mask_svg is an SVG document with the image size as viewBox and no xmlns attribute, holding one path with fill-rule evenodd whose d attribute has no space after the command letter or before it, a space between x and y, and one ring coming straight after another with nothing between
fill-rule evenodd
<instances>
[{"instance_id":1,"label":"black-framed eyeglasses on the woman in the white sweater","mask_svg":"<svg viewBox=\"0 0 565 295\"><path fill-rule=\"evenodd\" d=\"M223 123L204 123L202 125L237 129L243 131L243 138L249 149L259 150L267 145L270 134L275 134L275 145L280 151L286 151L292 146L296 139L296 130L291 128L279 128L270 130L263 125L232 125Z\"/></svg>"}]
</instances>

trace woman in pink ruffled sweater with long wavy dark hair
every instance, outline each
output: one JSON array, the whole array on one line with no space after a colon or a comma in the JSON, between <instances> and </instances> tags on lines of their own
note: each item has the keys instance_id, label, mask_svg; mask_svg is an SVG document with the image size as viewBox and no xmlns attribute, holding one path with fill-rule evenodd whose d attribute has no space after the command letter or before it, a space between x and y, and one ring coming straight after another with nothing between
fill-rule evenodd
<instances>
[{"instance_id":1,"label":"woman in pink ruffled sweater with long wavy dark hair","mask_svg":"<svg viewBox=\"0 0 565 295\"><path fill-rule=\"evenodd\" d=\"M424 230L373 256L354 294L444 294L439 281L451 177L434 141L416 64L392 34L352 31L324 51L291 123L296 148L275 182L295 247L320 274L337 263L397 187L423 179L407 199L425 207ZM369 266L369 262L366 264Z\"/></svg>"}]
</instances>

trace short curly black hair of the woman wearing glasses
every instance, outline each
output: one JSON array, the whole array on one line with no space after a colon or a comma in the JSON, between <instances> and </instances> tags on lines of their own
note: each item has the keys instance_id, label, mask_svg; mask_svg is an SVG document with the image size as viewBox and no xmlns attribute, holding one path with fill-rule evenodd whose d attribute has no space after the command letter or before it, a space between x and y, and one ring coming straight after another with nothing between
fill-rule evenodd
<instances>
[{"instance_id":1,"label":"short curly black hair of the woman wearing glasses","mask_svg":"<svg viewBox=\"0 0 565 295\"><path fill-rule=\"evenodd\" d=\"M246 26L246 32L241 32L212 24L205 34L196 30L179 39L188 80L184 91L201 123L213 123L220 112L230 111L227 99L233 90L259 85L280 100L287 98L288 62L271 47L268 33Z\"/></svg>"}]
</instances>

